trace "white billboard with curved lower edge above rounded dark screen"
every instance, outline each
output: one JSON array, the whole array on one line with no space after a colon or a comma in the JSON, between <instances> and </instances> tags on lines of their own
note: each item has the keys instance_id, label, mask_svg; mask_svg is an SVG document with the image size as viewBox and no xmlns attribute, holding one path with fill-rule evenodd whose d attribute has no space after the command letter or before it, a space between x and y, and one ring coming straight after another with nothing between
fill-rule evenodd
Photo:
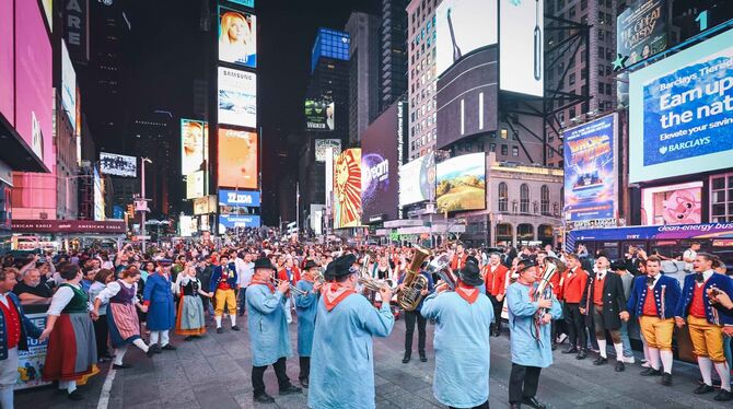
<instances>
[{"instance_id":1,"label":"white billboard with curved lower edge above rounded dark screen","mask_svg":"<svg viewBox=\"0 0 733 409\"><path fill-rule=\"evenodd\" d=\"M435 72L497 44L497 0L443 0L435 8Z\"/></svg>"}]
</instances>

